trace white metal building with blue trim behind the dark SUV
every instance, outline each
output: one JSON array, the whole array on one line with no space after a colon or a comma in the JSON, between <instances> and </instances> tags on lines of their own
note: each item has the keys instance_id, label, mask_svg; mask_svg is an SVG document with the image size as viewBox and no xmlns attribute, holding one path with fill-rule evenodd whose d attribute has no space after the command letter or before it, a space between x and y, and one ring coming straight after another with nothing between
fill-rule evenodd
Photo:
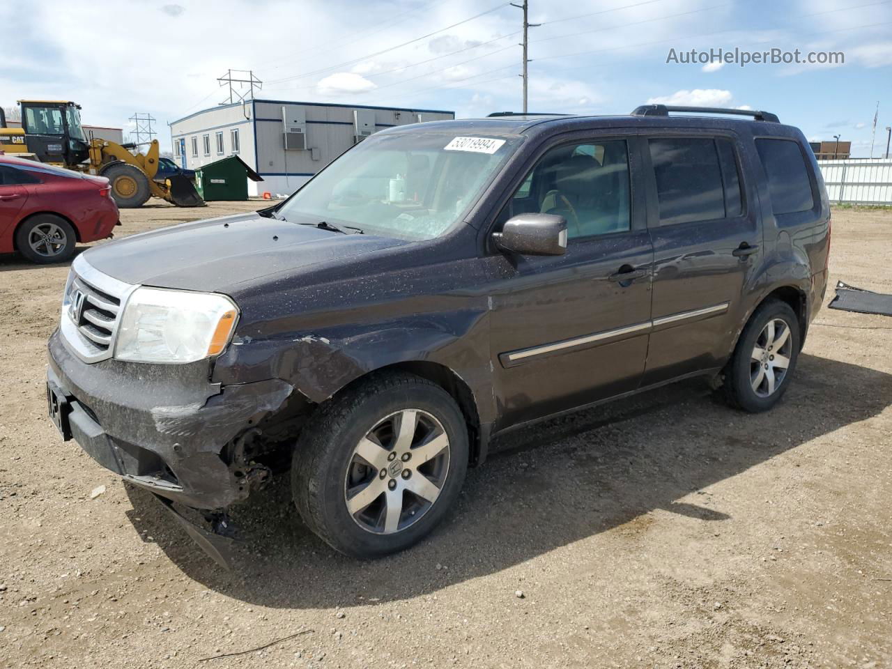
<instances>
[{"instance_id":1,"label":"white metal building with blue trim behind the dark SUV","mask_svg":"<svg viewBox=\"0 0 892 669\"><path fill-rule=\"evenodd\" d=\"M169 124L180 165L197 169L238 155L263 181L252 195L291 194L338 155L372 133L455 118L453 111L352 104L247 100L196 111Z\"/></svg>"}]
</instances>

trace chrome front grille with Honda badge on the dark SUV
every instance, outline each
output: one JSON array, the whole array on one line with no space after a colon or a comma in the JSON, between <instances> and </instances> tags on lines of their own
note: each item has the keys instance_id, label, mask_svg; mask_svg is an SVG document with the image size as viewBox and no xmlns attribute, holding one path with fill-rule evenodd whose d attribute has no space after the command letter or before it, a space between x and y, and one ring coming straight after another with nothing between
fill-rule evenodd
<instances>
[{"instance_id":1,"label":"chrome front grille with Honda badge on the dark SUV","mask_svg":"<svg viewBox=\"0 0 892 669\"><path fill-rule=\"evenodd\" d=\"M83 256L72 263L62 300L62 335L80 359L111 358L121 310L135 288L99 272Z\"/></svg>"}]
</instances>

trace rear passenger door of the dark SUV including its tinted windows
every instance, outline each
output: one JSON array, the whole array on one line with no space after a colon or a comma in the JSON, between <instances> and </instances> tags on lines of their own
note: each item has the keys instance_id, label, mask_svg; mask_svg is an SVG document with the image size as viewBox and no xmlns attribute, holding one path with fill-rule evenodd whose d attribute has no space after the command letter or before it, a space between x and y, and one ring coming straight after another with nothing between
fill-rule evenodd
<instances>
[{"instance_id":1,"label":"rear passenger door of the dark SUV including its tinted windows","mask_svg":"<svg viewBox=\"0 0 892 669\"><path fill-rule=\"evenodd\" d=\"M721 364L746 311L762 254L755 185L739 140L721 134L645 138L654 245L653 329L643 385Z\"/></svg>"}]
</instances>

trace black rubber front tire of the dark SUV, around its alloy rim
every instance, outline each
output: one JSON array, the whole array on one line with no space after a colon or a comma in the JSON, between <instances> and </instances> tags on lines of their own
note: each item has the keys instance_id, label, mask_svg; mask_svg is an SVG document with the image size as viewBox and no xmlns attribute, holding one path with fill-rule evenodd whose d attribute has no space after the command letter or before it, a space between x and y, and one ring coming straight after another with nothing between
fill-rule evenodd
<instances>
[{"instance_id":1,"label":"black rubber front tire of the dark SUV, around its alloy rim","mask_svg":"<svg viewBox=\"0 0 892 669\"><path fill-rule=\"evenodd\" d=\"M407 527L394 533L374 533L362 526L347 507L348 476L356 463L354 448L386 417L403 409L420 409L439 421L449 439L448 465L442 466L445 475L439 497L417 520L404 508ZM395 455L393 464L401 467ZM448 392L411 374L371 376L319 409L304 427L293 456L294 503L310 530L335 550L355 558L377 558L409 548L442 521L461 491L467 462L467 425ZM410 460L407 469L409 464ZM376 469L368 471L378 474ZM419 472L409 472L409 476L420 476ZM400 476L392 476L394 482L382 470L381 484L400 483ZM409 503L416 500L411 494L400 495ZM384 495L377 498L377 503L386 505L386 500ZM386 508L382 513L386 514Z\"/></svg>"}]
</instances>

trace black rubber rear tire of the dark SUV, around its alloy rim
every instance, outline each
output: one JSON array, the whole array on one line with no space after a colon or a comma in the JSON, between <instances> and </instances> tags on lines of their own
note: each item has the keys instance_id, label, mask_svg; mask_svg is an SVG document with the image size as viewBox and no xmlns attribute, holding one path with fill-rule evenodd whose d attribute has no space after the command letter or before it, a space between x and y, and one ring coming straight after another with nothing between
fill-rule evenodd
<instances>
[{"instance_id":1,"label":"black rubber rear tire of the dark SUV, around its alloy rim","mask_svg":"<svg viewBox=\"0 0 892 669\"><path fill-rule=\"evenodd\" d=\"M765 328L771 322L783 321L789 328L789 337L785 343L776 350L774 347L761 345L766 342ZM775 330L779 328L775 326ZM776 341L776 340L775 340ZM756 344L760 344L758 351L764 351L764 357L756 359ZM743 409L751 413L767 411L783 397L787 392L790 379L796 369L799 357L800 326L796 313L789 308L789 304L780 300L766 300L760 304L749 318L747 326L734 349L734 354L725 368L724 393L725 399L732 407ZM772 367L773 392L765 394L770 387L765 376L767 368L764 365L778 364L774 355L782 351L783 357L789 359L789 365L782 376L778 369ZM779 359L780 355L778 355ZM761 375L761 376L760 376ZM758 384L758 390L754 388Z\"/></svg>"}]
</instances>

